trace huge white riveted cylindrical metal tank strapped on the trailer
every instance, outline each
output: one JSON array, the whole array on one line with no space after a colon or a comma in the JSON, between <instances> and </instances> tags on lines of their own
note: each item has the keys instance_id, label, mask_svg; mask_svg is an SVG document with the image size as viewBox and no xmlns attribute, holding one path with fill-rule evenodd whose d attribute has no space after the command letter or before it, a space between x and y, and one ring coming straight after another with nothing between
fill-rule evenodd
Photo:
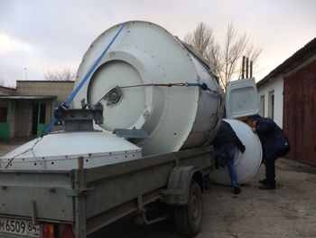
<instances>
[{"instance_id":1,"label":"huge white riveted cylindrical metal tank strapped on the trailer","mask_svg":"<svg viewBox=\"0 0 316 238\"><path fill-rule=\"evenodd\" d=\"M109 28L90 45L79 65L75 86L119 26ZM181 84L186 82L189 85ZM172 87L165 85L169 83ZM192 83L205 83L209 90ZM219 91L208 66L176 37L157 24L134 21L125 23L74 105L81 107L83 99L88 104L100 101L105 120L96 127L105 131L146 130L149 138L134 143L143 148L144 155L153 155L209 144L222 115Z\"/></svg>"}]
</instances>

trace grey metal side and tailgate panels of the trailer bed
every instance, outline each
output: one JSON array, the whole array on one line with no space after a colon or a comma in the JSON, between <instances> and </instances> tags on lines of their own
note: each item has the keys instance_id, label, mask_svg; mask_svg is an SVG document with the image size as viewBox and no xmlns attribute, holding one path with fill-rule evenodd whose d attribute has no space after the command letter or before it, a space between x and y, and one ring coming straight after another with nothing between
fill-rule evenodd
<instances>
[{"instance_id":1,"label":"grey metal side and tailgate panels of the trailer bed","mask_svg":"<svg viewBox=\"0 0 316 238\"><path fill-rule=\"evenodd\" d=\"M35 224L74 224L76 237L86 237L162 198L169 175L178 166L193 166L209 173L212 148L193 148L104 167L79 166L70 171L1 170L0 216L33 220Z\"/></svg>"}]
</instances>

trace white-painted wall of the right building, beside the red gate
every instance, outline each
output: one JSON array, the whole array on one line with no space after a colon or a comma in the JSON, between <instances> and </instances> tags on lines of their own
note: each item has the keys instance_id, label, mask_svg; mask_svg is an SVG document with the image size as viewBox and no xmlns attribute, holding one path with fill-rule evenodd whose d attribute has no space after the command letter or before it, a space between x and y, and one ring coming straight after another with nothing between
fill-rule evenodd
<instances>
[{"instance_id":1,"label":"white-painted wall of the right building, beside the red gate","mask_svg":"<svg viewBox=\"0 0 316 238\"><path fill-rule=\"evenodd\" d=\"M274 121L280 128L283 128L283 77L275 77L257 90L259 99L265 95L265 115L261 116L266 118L269 111L269 92L274 90Z\"/></svg>"}]
</instances>

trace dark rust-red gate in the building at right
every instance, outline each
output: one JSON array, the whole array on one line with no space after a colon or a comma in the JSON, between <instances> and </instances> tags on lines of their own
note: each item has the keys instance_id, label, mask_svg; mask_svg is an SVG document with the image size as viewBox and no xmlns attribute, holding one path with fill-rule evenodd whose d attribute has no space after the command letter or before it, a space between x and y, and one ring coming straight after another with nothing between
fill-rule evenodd
<instances>
[{"instance_id":1,"label":"dark rust-red gate in the building at right","mask_svg":"<svg viewBox=\"0 0 316 238\"><path fill-rule=\"evenodd\" d=\"M316 166L316 59L284 77L284 130L291 157Z\"/></svg>"}]
</instances>

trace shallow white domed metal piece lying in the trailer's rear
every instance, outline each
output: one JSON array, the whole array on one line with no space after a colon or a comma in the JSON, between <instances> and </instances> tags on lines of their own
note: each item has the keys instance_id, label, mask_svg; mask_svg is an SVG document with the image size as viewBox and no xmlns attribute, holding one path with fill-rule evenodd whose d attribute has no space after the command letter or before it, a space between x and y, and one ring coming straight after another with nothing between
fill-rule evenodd
<instances>
[{"instance_id":1,"label":"shallow white domed metal piece lying in the trailer's rear","mask_svg":"<svg viewBox=\"0 0 316 238\"><path fill-rule=\"evenodd\" d=\"M0 157L0 169L9 164L8 170L70 170L78 167L78 157L84 157L85 168L101 167L141 158L142 148L101 131L57 132Z\"/></svg>"}]
</instances>

